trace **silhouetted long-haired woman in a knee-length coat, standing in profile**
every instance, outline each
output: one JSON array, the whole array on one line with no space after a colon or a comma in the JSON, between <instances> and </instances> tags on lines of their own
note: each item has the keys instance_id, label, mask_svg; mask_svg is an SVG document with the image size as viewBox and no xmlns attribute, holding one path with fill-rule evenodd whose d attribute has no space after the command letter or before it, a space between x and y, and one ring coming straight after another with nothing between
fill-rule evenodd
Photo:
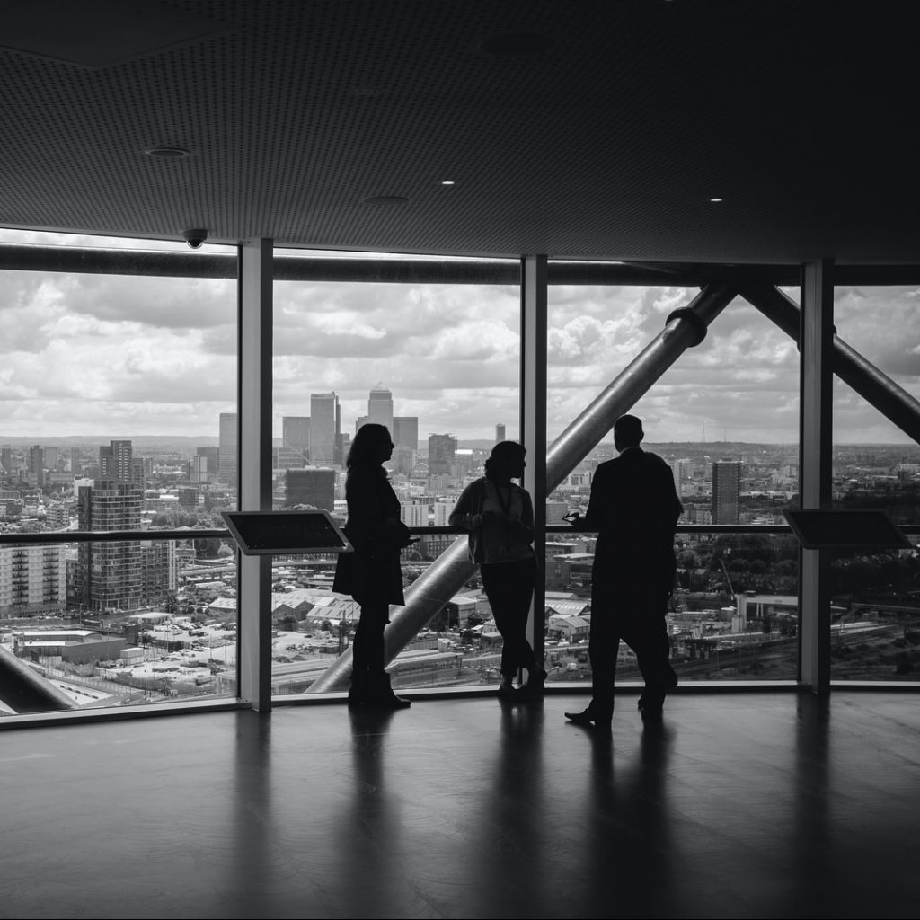
<instances>
[{"instance_id":1,"label":"silhouetted long-haired woman in a knee-length coat, standing in profile","mask_svg":"<svg viewBox=\"0 0 920 920\"><path fill-rule=\"evenodd\" d=\"M351 649L350 706L410 705L393 693L384 669L384 627L390 604L406 603L399 551L411 542L383 466L392 455L390 432L384 425L368 423L355 434L346 461L348 523L343 530L354 552L339 556L332 590L351 594L361 604Z\"/></svg>"}]
</instances>

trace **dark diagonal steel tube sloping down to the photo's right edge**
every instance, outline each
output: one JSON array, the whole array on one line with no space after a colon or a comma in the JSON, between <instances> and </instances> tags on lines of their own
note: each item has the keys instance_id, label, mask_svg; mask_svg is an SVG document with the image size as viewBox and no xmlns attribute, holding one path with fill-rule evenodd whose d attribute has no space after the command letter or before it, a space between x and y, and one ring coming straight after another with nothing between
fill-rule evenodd
<instances>
[{"instance_id":1,"label":"dark diagonal steel tube sloping down to the photo's right edge","mask_svg":"<svg viewBox=\"0 0 920 920\"><path fill-rule=\"evenodd\" d=\"M739 293L790 338L799 342L801 311L787 294L765 283L742 284ZM904 434L920 443L920 402L837 335L834 335L831 369L870 406L877 408Z\"/></svg>"}]
</instances>

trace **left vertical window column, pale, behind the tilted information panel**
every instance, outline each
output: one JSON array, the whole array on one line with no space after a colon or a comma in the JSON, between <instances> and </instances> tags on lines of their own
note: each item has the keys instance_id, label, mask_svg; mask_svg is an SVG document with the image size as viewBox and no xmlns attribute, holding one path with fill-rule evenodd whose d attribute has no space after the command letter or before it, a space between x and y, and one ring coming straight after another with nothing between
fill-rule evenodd
<instances>
[{"instance_id":1,"label":"left vertical window column, pale, behind the tilted information panel","mask_svg":"<svg viewBox=\"0 0 920 920\"><path fill-rule=\"evenodd\" d=\"M271 511L272 241L239 248L239 510ZM271 707L271 557L239 559L239 696Z\"/></svg>"}]
</instances>

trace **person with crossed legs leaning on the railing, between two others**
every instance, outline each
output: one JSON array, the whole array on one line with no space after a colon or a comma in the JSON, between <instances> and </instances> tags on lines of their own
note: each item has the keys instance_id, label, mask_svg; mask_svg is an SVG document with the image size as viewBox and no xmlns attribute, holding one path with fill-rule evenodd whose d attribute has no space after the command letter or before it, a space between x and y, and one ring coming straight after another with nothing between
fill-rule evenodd
<instances>
[{"instance_id":1,"label":"person with crossed legs leaning on the railing, between two others","mask_svg":"<svg viewBox=\"0 0 920 920\"><path fill-rule=\"evenodd\" d=\"M513 441L496 444L486 461L486 475L464 489L450 516L452 527L469 531L470 558L479 564L503 640L499 695L507 698L537 696L546 680L527 641L536 580L534 505L526 489L512 482L523 477L524 453ZM514 676L522 669L527 682L515 688Z\"/></svg>"}]
</instances>

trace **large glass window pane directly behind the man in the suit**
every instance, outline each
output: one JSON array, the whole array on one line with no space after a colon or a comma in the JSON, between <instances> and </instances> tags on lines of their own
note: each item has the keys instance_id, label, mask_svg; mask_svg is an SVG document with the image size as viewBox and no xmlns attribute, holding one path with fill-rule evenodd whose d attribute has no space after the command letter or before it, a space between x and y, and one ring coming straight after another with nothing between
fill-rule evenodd
<instances>
[{"instance_id":1,"label":"large glass window pane directly behind the man in the suit","mask_svg":"<svg viewBox=\"0 0 920 920\"><path fill-rule=\"evenodd\" d=\"M696 289L549 289L549 441L577 418L664 328ZM791 537L714 533L720 526L785 525L798 491L799 364L795 342L735 298L706 339L668 368L643 374L634 405L642 446L671 466L684 505L677 535L678 587L668 614L682 680L795 679L798 551ZM611 418L611 424L613 418ZM548 498L547 523L584 512L596 467L616 454L612 435L590 447ZM695 527L703 529L696 530ZM555 533L546 543L546 654L550 679L590 679L594 535ZM639 680L623 644L619 678Z\"/></svg>"}]
</instances>

